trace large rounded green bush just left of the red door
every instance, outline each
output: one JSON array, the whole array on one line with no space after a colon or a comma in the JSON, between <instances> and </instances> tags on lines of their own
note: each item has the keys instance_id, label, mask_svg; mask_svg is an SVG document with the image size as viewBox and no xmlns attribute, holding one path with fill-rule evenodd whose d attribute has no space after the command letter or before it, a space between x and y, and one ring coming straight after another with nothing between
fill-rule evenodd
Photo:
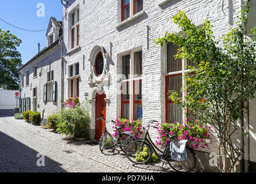
<instances>
[{"instance_id":1,"label":"large rounded green bush just left of the red door","mask_svg":"<svg viewBox=\"0 0 256 184\"><path fill-rule=\"evenodd\" d=\"M59 113L57 131L71 137L89 137L90 112L86 107L77 106Z\"/></svg>"}]
</instances>

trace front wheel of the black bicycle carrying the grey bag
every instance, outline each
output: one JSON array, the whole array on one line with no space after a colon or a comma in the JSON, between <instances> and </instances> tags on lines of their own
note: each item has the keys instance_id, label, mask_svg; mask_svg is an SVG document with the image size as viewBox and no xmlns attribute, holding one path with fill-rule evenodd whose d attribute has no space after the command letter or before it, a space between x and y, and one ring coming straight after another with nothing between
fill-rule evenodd
<instances>
[{"instance_id":1,"label":"front wheel of the black bicycle carrying the grey bag","mask_svg":"<svg viewBox=\"0 0 256 184\"><path fill-rule=\"evenodd\" d=\"M143 164L150 160L152 151L150 144L142 140L135 140L126 147L127 158L136 164Z\"/></svg>"}]
</instances>

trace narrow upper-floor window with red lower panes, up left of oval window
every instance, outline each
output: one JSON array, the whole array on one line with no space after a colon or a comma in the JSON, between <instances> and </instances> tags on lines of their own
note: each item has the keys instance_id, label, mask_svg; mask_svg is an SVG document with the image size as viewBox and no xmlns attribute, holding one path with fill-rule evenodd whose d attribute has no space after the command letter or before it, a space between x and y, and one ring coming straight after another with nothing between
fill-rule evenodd
<instances>
[{"instance_id":1,"label":"narrow upper-floor window with red lower panes, up left of oval window","mask_svg":"<svg viewBox=\"0 0 256 184\"><path fill-rule=\"evenodd\" d=\"M70 49L72 49L79 45L79 9L74 9L70 17Z\"/></svg>"}]
</instances>

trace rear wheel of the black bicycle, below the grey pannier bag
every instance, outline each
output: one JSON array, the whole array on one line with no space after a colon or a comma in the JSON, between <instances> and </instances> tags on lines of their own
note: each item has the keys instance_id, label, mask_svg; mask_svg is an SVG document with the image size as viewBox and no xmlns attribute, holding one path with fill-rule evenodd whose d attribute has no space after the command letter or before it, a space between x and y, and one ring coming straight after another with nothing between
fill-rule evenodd
<instances>
[{"instance_id":1,"label":"rear wheel of the black bicycle, below the grey pannier bag","mask_svg":"<svg viewBox=\"0 0 256 184\"><path fill-rule=\"evenodd\" d=\"M188 159L182 162L167 159L167 163L169 164L169 166L178 173L190 173L194 170L194 167L196 167L196 156L194 155L192 148L186 146L186 150L188 154Z\"/></svg>"}]
</instances>

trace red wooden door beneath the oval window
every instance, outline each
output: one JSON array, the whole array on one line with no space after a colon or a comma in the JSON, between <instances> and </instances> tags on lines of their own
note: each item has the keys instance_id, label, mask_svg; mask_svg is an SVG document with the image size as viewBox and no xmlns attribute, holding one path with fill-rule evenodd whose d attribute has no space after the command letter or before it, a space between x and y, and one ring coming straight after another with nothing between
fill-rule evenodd
<instances>
[{"instance_id":1,"label":"red wooden door beneath the oval window","mask_svg":"<svg viewBox=\"0 0 256 184\"><path fill-rule=\"evenodd\" d=\"M106 102L104 100L106 95L103 94L96 94L96 107L95 107L95 114L96 117L103 117L106 120ZM96 120L95 117L95 139L101 139L102 133L104 132L104 125L105 122L102 120Z\"/></svg>"}]
</instances>

